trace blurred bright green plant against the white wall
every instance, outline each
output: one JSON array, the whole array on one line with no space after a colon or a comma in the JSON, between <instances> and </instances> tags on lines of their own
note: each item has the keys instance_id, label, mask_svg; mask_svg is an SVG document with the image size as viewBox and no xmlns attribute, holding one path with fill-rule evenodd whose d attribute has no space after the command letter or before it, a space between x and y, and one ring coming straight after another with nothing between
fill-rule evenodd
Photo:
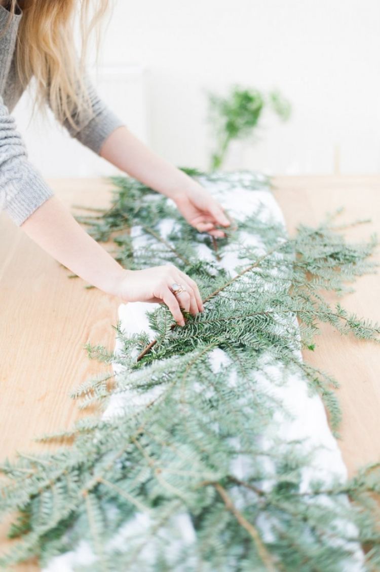
<instances>
[{"instance_id":1,"label":"blurred bright green plant against the white wall","mask_svg":"<svg viewBox=\"0 0 380 572\"><path fill-rule=\"evenodd\" d=\"M221 168L231 141L246 139L254 133L265 106L282 121L289 120L290 102L278 90L266 96L257 89L233 86L226 97L209 94L210 119L216 139L211 170Z\"/></svg>"}]
</instances>

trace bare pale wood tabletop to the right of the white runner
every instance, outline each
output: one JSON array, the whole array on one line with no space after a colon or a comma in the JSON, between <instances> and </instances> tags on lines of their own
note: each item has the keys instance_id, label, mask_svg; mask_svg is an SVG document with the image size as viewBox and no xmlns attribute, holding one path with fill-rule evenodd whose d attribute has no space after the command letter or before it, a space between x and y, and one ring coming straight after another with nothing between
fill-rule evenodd
<instances>
[{"instance_id":1,"label":"bare pale wood tabletop to the right of the white runner","mask_svg":"<svg viewBox=\"0 0 380 572\"><path fill-rule=\"evenodd\" d=\"M347 237L361 240L373 233L380 236L378 176L275 177L273 184L291 233L297 224L318 224L326 212L343 207L339 216L342 223L371 219L370 224L347 229ZM380 273L360 277L354 288L354 293L343 297L342 304L361 317L380 322ZM315 341L315 351L304 352L304 359L329 371L341 384L338 397L343 422L338 444L353 475L359 466L380 460L380 346L342 337L327 325L322 326L322 335Z\"/></svg>"}]
</instances>

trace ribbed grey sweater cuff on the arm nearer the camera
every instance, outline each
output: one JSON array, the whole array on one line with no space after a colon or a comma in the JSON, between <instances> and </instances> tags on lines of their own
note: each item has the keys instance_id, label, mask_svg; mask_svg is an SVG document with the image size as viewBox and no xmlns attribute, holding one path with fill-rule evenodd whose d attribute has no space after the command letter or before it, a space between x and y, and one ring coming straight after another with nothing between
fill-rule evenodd
<instances>
[{"instance_id":1,"label":"ribbed grey sweater cuff on the arm nearer the camera","mask_svg":"<svg viewBox=\"0 0 380 572\"><path fill-rule=\"evenodd\" d=\"M6 201L4 210L18 226L22 225L39 206L53 196L53 191L42 180L36 182L37 184L33 185L31 181L28 181L27 190L18 189L10 200Z\"/></svg>"}]
</instances>

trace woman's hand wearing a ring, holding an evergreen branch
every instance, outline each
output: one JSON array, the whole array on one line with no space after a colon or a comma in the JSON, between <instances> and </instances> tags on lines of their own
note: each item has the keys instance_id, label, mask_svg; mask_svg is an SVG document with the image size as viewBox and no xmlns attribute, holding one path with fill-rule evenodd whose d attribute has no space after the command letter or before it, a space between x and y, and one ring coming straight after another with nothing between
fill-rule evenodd
<instances>
[{"instance_id":1,"label":"woman's hand wearing a ring, holding an evergreen branch","mask_svg":"<svg viewBox=\"0 0 380 572\"><path fill-rule=\"evenodd\" d=\"M174 295L173 284L179 284L184 291ZM171 264L145 270L125 270L118 293L125 302L165 303L181 326L185 325L181 308L193 316L203 312L197 283Z\"/></svg>"}]
</instances>

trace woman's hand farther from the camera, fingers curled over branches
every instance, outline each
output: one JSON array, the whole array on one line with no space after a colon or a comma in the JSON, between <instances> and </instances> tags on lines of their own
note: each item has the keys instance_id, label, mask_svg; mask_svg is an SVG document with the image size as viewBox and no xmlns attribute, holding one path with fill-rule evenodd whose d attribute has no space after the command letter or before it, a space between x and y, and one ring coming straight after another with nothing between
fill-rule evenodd
<instances>
[{"instance_id":1,"label":"woman's hand farther from the camera, fingers curled over branches","mask_svg":"<svg viewBox=\"0 0 380 572\"><path fill-rule=\"evenodd\" d=\"M181 215L199 232L221 238L225 233L217 227L229 227L231 224L218 201L201 185L194 184L172 196Z\"/></svg>"}]
</instances>

